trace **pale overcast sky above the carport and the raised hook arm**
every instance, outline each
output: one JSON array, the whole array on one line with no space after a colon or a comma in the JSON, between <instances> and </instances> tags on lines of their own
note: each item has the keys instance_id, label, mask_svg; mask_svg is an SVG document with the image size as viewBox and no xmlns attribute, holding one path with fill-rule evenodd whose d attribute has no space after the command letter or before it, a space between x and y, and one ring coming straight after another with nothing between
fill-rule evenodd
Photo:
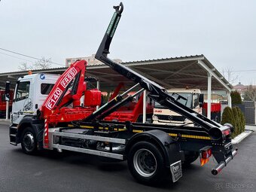
<instances>
[{"instance_id":1,"label":"pale overcast sky above the carport and the raised hook arm","mask_svg":"<svg viewBox=\"0 0 256 192\"><path fill-rule=\"evenodd\" d=\"M117 0L1 0L0 47L51 58L96 53ZM111 44L123 61L204 54L222 72L236 71L242 84L256 81L256 1L123 0ZM11 56L16 56L17 59ZM0 50L0 72L35 61ZM60 67L52 65L52 67ZM246 72L237 72L237 71Z\"/></svg>"}]
</instances>

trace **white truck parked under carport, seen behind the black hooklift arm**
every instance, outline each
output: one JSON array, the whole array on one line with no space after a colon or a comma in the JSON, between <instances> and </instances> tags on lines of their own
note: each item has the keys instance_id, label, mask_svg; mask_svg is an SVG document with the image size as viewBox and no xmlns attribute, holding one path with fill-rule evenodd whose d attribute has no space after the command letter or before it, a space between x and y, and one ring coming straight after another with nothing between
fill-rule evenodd
<instances>
[{"instance_id":1,"label":"white truck parked under carport, seen behind the black hooklift arm","mask_svg":"<svg viewBox=\"0 0 256 192\"><path fill-rule=\"evenodd\" d=\"M170 96L173 96L178 102L186 105L188 108L193 109L199 114L202 114L203 94L200 89L169 89L167 90ZM153 112L153 123L154 124L169 124L169 125L181 125L188 123L190 126L194 126L192 121L188 120L181 114L171 111L168 108L155 102Z\"/></svg>"}]
</instances>

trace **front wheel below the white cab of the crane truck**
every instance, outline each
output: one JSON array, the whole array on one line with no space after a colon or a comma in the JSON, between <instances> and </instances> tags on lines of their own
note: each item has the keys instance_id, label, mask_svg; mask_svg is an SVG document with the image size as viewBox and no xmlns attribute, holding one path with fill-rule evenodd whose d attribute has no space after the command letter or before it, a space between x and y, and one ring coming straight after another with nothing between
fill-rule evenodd
<instances>
[{"instance_id":1,"label":"front wheel below the white cab of the crane truck","mask_svg":"<svg viewBox=\"0 0 256 192\"><path fill-rule=\"evenodd\" d=\"M26 127L21 136L21 148L25 154L35 154L38 151L35 131Z\"/></svg>"}]
</instances>

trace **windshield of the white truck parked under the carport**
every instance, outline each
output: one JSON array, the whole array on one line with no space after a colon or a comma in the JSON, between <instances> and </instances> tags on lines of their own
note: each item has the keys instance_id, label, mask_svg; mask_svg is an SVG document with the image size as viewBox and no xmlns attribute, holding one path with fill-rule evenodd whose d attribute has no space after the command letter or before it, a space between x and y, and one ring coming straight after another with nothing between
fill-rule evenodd
<instances>
[{"instance_id":1,"label":"windshield of the white truck parked under the carport","mask_svg":"<svg viewBox=\"0 0 256 192\"><path fill-rule=\"evenodd\" d=\"M169 93L169 96L173 96L178 102L183 105L186 105L188 108L192 108L192 93ZM178 97L181 96L181 97ZM154 108L166 108L163 105L160 105L158 102L155 102Z\"/></svg>"}]
</instances>

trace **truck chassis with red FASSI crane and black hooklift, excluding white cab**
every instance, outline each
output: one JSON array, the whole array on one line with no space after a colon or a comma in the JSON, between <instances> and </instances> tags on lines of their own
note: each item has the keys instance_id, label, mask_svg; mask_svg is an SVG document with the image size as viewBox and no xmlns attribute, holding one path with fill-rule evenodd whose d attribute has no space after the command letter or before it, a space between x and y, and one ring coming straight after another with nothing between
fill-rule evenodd
<instances>
[{"instance_id":1,"label":"truck chassis with red FASSI crane and black hooklift, excluding white cab","mask_svg":"<svg viewBox=\"0 0 256 192\"><path fill-rule=\"evenodd\" d=\"M96 109L100 102L99 90L86 90L84 74L87 62L77 61L59 76L37 114L23 115L17 121L13 119L10 126L11 144L21 143L26 154L34 154L42 149L57 149L127 160L133 177L146 184L157 183L165 178L177 181L182 175L181 166L194 162L199 156L203 165L213 155L218 165L212 169L212 174L218 174L237 153L230 139L233 126L221 126L209 120L176 101L160 85L108 59L123 4L120 3L114 9L96 59L129 78L135 85ZM24 90L27 88L25 86ZM128 96L132 90L136 90L136 93ZM148 97L155 102L187 117L197 126L104 120L144 90L148 91ZM31 93L36 92L32 90ZM81 108L80 99L83 95L87 106ZM24 98L29 98L29 95L25 94ZM16 102L14 98L13 105ZM31 105L35 103L31 102Z\"/></svg>"}]
</instances>

